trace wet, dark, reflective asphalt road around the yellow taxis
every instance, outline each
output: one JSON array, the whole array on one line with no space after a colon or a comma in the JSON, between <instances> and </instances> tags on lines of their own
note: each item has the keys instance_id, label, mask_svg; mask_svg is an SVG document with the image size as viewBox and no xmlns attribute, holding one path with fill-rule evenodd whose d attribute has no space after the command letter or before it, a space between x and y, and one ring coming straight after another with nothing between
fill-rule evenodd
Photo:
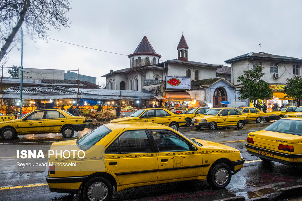
<instances>
[{"instance_id":1,"label":"wet, dark, reflective asphalt road around the yellow taxis","mask_svg":"<svg viewBox=\"0 0 302 201\"><path fill-rule=\"evenodd\" d=\"M191 138L219 142L238 149L246 162L241 171L232 176L230 184L223 190L213 190L207 182L187 181L134 188L114 193L112 200L215 200L232 196L253 198L273 193L279 188L302 184L302 167L271 162L264 164L259 158L250 156L245 148L247 134L262 130L270 123L249 123L243 129L228 127L214 131L195 127L182 127L180 132ZM92 129L75 133L74 139ZM18 136L18 139L4 141L2 145L50 145L55 141L66 140L61 134L31 134ZM44 171L1 171L4 166L15 163L13 158L0 158L0 200L63 200L78 201L79 195L53 193L46 185ZM7 167L6 167L7 168ZM10 188L8 188L10 187Z\"/></svg>"}]
</instances>

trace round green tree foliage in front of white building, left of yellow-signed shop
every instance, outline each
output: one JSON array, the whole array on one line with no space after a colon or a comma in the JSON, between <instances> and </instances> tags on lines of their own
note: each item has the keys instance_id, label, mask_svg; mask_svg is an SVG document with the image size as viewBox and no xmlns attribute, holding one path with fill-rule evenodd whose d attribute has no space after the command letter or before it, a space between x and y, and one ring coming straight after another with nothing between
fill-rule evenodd
<instances>
[{"instance_id":1,"label":"round green tree foliage in front of white building, left of yellow-signed shop","mask_svg":"<svg viewBox=\"0 0 302 201\"><path fill-rule=\"evenodd\" d=\"M269 88L268 83L261 80L265 75L262 72L264 67L256 66L254 70L243 71L244 75L239 76L237 82L243 85L238 94L240 100L250 99L256 102L257 99L272 99L273 90Z\"/></svg>"}]
</instances>

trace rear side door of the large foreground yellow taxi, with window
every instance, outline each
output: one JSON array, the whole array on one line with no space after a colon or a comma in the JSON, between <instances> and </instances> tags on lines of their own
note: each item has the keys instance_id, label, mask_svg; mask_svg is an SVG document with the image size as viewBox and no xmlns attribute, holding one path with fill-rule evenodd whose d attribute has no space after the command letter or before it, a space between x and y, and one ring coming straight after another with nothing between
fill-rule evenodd
<instances>
[{"instance_id":1,"label":"rear side door of the large foreground yellow taxi, with window","mask_svg":"<svg viewBox=\"0 0 302 201\"><path fill-rule=\"evenodd\" d=\"M156 181L158 163L150 142L146 130L128 130L108 146L106 169L117 176L120 185Z\"/></svg>"}]
</instances>

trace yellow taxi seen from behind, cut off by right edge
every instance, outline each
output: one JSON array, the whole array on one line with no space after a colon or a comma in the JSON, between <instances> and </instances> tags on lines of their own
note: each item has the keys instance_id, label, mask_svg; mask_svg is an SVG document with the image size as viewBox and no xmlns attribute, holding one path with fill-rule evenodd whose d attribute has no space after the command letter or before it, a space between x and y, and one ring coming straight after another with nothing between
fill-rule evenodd
<instances>
[{"instance_id":1,"label":"yellow taxi seen from behind, cut off by right edge","mask_svg":"<svg viewBox=\"0 0 302 201\"><path fill-rule=\"evenodd\" d=\"M280 119L264 130L248 134L246 149L264 162L302 164L302 119Z\"/></svg>"}]
</instances>

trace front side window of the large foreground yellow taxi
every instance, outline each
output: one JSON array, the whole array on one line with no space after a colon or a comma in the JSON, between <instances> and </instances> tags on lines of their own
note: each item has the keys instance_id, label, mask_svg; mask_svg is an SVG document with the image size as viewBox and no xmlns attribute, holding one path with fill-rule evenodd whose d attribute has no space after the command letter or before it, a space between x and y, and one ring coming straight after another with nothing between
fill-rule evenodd
<instances>
[{"instance_id":1,"label":"front side window of the large foreground yellow taxi","mask_svg":"<svg viewBox=\"0 0 302 201\"><path fill-rule=\"evenodd\" d=\"M188 144L175 133L165 130L152 130L152 137L159 151L189 151Z\"/></svg>"}]
</instances>

